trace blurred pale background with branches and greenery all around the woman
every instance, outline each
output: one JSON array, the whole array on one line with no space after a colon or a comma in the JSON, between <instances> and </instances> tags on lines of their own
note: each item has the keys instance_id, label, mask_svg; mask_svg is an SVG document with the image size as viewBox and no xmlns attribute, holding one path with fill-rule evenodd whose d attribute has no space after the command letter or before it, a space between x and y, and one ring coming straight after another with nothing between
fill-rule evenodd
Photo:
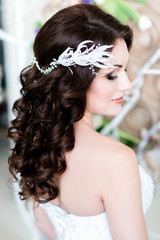
<instances>
[{"instance_id":1,"label":"blurred pale background with branches and greenery all around the woman","mask_svg":"<svg viewBox=\"0 0 160 240\"><path fill-rule=\"evenodd\" d=\"M160 0L0 0L0 239L45 239L32 212L9 183L6 138L14 118L13 102L20 96L19 73L31 62L32 44L43 23L61 8L77 3L100 6L134 31L127 72L133 89L113 119L96 115L95 129L134 149L151 175L153 203L145 219L150 240L160 240ZM31 209L31 204L28 208Z\"/></svg>"}]
</instances>

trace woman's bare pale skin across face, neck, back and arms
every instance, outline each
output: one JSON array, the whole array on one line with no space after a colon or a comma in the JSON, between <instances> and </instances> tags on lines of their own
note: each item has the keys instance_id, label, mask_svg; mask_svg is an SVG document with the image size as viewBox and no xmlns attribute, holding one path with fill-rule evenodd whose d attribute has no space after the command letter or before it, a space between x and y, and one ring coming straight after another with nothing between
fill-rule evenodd
<instances>
[{"instance_id":1,"label":"woman's bare pale skin across face, neck, back and arms","mask_svg":"<svg viewBox=\"0 0 160 240\"><path fill-rule=\"evenodd\" d=\"M66 212L93 216L107 212L113 240L148 240L142 211L138 163L132 149L102 136L93 129L93 114L116 115L121 104L115 99L131 88L126 75L128 50L118 40L112 54L115 69L101 69L87 94L84 117L74 124L75 147L66 154L67 169L60 177L59 198L51 201ZM54 228L40 207L35 208L37 224L53 240ZM43 219L43 220L42 220ZM43 223L42 223L43 221ZM46 230L47 229L47 230Z\"/></svg>"}]
</instances>

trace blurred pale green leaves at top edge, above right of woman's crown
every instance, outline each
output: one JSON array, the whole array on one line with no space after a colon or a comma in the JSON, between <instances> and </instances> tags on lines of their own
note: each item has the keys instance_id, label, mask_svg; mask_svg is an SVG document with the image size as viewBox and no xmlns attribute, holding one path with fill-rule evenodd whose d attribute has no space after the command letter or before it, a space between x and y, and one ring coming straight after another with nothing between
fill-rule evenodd
<instances>
[{"instance_id":1,"label":"blurred pale green leaves at top edge, above right of woman's crown","mask_svg":"<svg viewBox=\"0 0 160 240\"><path fill-rule=\"evenodd\" d=\"M145 0L134 0L136 2L147 4ZM139 22L140 14L136 9L129 6L125 0L106 0L101 8L110 13L123 23L128 23L131 19Z\"/></svg>"}]
</instances>

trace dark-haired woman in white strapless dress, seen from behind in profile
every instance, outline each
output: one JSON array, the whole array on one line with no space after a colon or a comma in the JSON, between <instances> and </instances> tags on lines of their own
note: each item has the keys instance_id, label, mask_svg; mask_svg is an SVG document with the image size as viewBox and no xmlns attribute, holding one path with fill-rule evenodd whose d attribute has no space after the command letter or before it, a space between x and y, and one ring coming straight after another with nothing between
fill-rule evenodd
<instances>
[{"instance_id":1,"label":"dark-haired woman in white strapless dress, seen from behind in profile","mask_svg":"<svg viewBox=\"0 0 160 240\"><path fill-rule=\"evenodd\" d=\"M71 6L41 28L20 75L10 171L51 240L148 240L152 181L130 148L93 129L93 114L118 114L131 88L131 44L129 26L93 5Z\"/></svg>"}]
</instances>

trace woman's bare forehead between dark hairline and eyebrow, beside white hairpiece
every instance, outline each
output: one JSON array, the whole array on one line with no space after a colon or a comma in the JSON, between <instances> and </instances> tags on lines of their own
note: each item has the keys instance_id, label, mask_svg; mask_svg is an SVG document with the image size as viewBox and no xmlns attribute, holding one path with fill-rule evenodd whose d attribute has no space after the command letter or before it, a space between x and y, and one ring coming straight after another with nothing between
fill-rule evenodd
<instances>
[{"instance_id":1,"label":"woman's bare forehead between dark hairline and eyebrow, beside white hairpiece","mask_svg":"<svg viewBox=\"0 0 160 240\"><path fill-rule=\"evenodd\" d=\"M127 45L123 39L117 40L117 42L113 47L112 54L115 57L115 59L112 59L111 63L120 64L123 66L127 65L129 53L128 53Z\"/></svg>"}]
</instances>

